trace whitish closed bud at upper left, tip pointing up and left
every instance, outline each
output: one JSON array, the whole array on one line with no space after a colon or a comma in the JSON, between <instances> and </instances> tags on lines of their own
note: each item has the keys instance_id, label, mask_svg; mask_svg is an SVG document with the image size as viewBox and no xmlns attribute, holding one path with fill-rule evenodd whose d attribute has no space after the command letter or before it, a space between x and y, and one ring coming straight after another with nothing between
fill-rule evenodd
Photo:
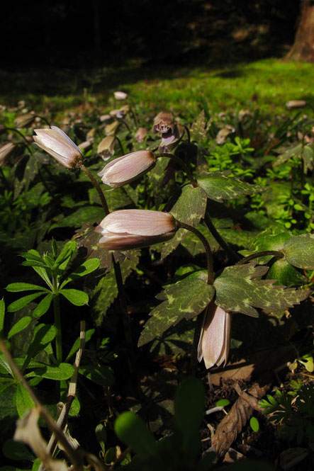
<instances>
[{"instance_id":1,"label":"whitish closed bud at upper left, tip pointing up and left","mask_svg":"<svg viewBox=\"0 0 314 471\"><path fill-rule=\"evenodd\" d=\"M35 129L35 133L35 143L67 169L74 169L82 161L83 154L79 147L59 127Z\"/></svg>"}]
</instances>

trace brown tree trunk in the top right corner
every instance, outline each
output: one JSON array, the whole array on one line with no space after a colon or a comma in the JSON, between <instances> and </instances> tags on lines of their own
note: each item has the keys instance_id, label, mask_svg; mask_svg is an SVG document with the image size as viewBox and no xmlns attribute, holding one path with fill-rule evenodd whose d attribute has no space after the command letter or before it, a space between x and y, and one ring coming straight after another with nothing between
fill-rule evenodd
<instances>
[{"instance_id":1,"label":"brown tree trunk in the top right corner","mask_svg":"<svg viewBox=\"0 0 314 471\"><path fill-rule=\"evenodd\" d=\"M302 0L296 39L286 59L314 62L314 1Z\"/></svg>"}]
</instances>

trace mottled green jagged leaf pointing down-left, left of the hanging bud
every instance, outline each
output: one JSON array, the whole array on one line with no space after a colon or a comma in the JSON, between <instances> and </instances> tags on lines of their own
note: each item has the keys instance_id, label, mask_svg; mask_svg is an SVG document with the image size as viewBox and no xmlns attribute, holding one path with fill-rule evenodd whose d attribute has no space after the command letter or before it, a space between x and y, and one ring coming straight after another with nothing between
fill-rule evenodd
<instances>
[{"instance_id":1,"label":"mottled green jagged leaf pointing down-left, left of the hanging bud","mask_svg":"<svg viewBox=\"0 0 314 471\"><path fill-rule=\"evenodd\" d=\"M138 346L155 339L181 319L191 319L200 314L214 294L213 285L208 285L199 278L185 278L174 285L167 285L157 296L164 302L150 312L152 317L145 324Z\"/></svg>"}]
</instances>

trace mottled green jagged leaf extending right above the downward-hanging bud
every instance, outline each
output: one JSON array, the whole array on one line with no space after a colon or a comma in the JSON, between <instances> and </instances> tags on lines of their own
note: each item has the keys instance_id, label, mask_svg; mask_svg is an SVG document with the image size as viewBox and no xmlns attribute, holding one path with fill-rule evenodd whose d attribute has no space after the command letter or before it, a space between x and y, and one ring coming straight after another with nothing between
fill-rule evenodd
<instances>
[{"instance_id":1,"label":"mottled green jagged leaf extending right above the downward-hanging bud","mask_svg":"<svg viewBox=\"0 0 314 471\"><path fill-rule=\"evenodd\" d=\"M215 279L215 302L228 312L242 312L257 317L254 307L265 312L284 310L305 300L310 290L295 290L274 285L276 280L258 279L267 273L268 267L255 263L228 266Z\"/></svg>"}]
</instances>

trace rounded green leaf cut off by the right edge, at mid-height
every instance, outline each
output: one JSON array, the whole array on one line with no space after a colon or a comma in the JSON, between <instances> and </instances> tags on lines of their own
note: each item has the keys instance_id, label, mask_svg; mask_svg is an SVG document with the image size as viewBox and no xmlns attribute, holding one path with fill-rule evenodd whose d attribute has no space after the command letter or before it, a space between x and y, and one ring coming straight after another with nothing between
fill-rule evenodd
<instances>
[{"instance_id":1,"label":"rounded green leaf cut off by the right edge, at mid-height","mask_svg":"<svg viewBox=\"0 0 314 471\"><path fill-rule=\"evenodd\" d=\"M314 234L291 237L284 244L284 253L291 265L314 270Z\"/></svg>"}]
</instances>

